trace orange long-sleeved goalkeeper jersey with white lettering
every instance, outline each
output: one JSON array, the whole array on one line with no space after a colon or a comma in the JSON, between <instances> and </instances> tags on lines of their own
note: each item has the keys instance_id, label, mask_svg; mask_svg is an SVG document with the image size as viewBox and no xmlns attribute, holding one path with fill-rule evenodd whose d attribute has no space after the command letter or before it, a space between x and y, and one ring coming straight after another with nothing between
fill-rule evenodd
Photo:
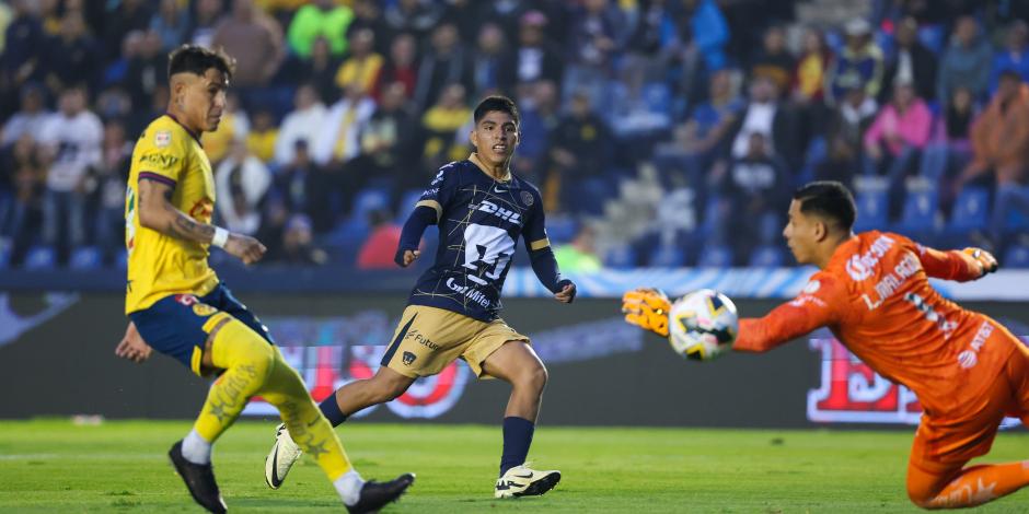
<instances>
[{"instance_id":1,"label":"orange long-sleeved goalkeeper jersey with white lettering","mask_svg":"<svg viewBox=\"0 0 1029 514\"><path fill-rule=\"evenodd\" d=\"M940 296L928 278L963 282L980 273L962 252L865 232L840 245L791 302L741 319L733 349L762 352L829 327L872 370L912 389L926 413L958 416L974 408L1018 342Z\"/></svg>"}]
</instances>

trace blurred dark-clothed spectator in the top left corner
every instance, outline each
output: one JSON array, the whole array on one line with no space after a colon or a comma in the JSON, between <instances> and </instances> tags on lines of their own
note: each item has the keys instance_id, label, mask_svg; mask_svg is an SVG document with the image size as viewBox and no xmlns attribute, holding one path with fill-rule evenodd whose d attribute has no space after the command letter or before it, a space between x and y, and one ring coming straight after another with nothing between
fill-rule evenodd
<instances>
[{"instance_id":1,"label":"blurred dark-clothed spectator in the top left corner","mask_svg":"<svg viewBox=\"0 0 1029 514\"><path fill-rule=\"evenodd\" d=\"M0 90L18 91L27 81L42 79L43 24L33 7L31 0L14 1L14 20L4 32L0 55Z\"/></svg>"}]
</instances>

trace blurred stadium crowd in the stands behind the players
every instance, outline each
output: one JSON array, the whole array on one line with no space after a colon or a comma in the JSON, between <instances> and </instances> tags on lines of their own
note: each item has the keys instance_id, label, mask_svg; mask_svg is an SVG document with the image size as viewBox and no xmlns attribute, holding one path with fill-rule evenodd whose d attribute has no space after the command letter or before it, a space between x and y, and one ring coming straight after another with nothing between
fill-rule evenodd
<instances>
[{"instance_id":1,"label":"blurred stadium crowd in the stands behind the players","mask_svg":"<svg viewBox=\"0 0 1029 514\"><path fill-rule=\"evenodd\" d=\"M789 265L782 213L820 178L852 186L863 229L1029 267L1029 4L878 0L819 26L801 3L0 4L0 267L124 262L132 142L163 114L183 43L236 59L203 143L217 220L273 262L393 267L398 223L471 151L470 106L500 92L563 269ZM692 221L591 255L589 221L645 164Z\"/></svg>"}]
</instances>

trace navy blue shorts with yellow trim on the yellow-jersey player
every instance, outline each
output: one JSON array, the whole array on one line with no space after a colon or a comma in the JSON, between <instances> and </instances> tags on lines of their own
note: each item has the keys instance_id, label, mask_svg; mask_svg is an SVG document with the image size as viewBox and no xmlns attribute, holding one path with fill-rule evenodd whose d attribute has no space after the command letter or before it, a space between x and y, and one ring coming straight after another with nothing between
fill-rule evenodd
<instances>
[{"instance_id":1,"label":"navy blue shorts with yellow trim on the yellow-jersey player","mask_svg":"<svg viewBox=\"0 0 1029 514\"><path fill-rule=\"evenodd\" d=\"M169 355L194 373L200 374L200 354L207 342L207 334L213 328L205 325L219 314L226 313L253 329L270 344L275 344L268 328L246 305L240 303L232 291L219 283L204 296L172 294L159 300L149 308L129 314L136 329L154 350ZM205 330L205 328L207 328Z\"/></svg>"}]
</instances>

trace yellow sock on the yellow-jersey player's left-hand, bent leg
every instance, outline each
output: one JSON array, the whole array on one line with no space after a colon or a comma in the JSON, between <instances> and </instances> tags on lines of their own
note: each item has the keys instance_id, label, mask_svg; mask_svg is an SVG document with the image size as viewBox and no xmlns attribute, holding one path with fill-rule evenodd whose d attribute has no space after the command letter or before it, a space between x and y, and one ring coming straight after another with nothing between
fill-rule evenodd
<instances>
[{"instance_id":1,"label":"yellow sock on the yellow-jersey player's left-hand, bent leg","mask_svg":"<svg viewBox=\"0 0 1029 514\"><path fill-rule=\"evenodd\" d=\"M211 316L210 330L228 315ZM221 326L211 342L211 362L226 370L211 386L194 429L213 443L265 384L275 362L275 348L236 319Z\"/></svg>"}]
</instances>

